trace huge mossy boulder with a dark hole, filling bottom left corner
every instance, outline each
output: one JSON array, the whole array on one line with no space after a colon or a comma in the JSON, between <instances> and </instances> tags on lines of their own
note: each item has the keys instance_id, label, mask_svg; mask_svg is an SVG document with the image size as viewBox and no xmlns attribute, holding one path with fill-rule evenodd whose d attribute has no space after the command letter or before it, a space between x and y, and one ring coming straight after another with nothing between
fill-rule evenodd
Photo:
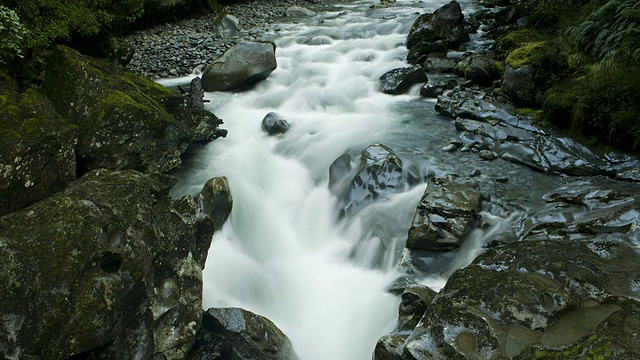
<instances>
[{"instance_id":1,"label":"huge mossy boulder with a dark hole, filling bottom left corner","mask_svg":"<svg viewBox=\"0 0 640 360\"><path fill-rule=\"evenodd\" d=\"M97 170L0 218L0 353L184 359L214 224L173 178Z\"/></svg>"}]
</instances>

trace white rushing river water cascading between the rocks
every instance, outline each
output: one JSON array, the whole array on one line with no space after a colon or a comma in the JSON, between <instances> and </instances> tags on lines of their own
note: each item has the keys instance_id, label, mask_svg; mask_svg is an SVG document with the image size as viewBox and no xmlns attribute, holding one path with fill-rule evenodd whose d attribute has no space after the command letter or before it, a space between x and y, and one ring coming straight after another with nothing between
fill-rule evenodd
<instances>
[{"instance_id":1,"label":"white rushing river water cascading between the rocks","mask_svg":"<svg viewBox=\"0 0 640 360\"><path fill-rule=\"evenodd\" d=\"M474 10L471 1L461 3ZM403 44L418 13L443 4L355 2L283 23L265 35L277 45L278 62L267 80L249 91L206 94L229 135L186 162L173 189L174 196L197 194L211 177L229 179L233 211L209 251L205 309L242 307L268 317L303 360L371 358L395 325L399 299L386 289L398 276L394 266L426 185L344 219L328 168L374 143L393 149L419 178L482 166L440 151L457 132L417 88L400 96L377 90L380 75L407 66ZM271 111L292 125L288 133L261 130ZM526 200L530 188L522 189L510 196ZM457 266L471 261L485 235L473 236ZM444 280L424 281L437 290Z\"/></svg>"}]
</instances>

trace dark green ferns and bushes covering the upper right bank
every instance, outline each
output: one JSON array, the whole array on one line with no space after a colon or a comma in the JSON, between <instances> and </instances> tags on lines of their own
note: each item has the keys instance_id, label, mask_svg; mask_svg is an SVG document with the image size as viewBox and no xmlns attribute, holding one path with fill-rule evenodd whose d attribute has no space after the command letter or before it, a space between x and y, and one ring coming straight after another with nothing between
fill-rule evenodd
<instances>
[{"instance_id":1,"label":"dark green ferns and bushes covering the upper right bank","mask_svg":"<svg viewBox=\"0 0 640 360\"><path fill-rule=\"evenodd\" d=\"M528 29L507 35L498 50L514 43L532 47L543 38L561 49L567 75L540 99L547 118L623 150L640 151L640 2L523 3L531 14Z\"/></svg>"}]
</instances>

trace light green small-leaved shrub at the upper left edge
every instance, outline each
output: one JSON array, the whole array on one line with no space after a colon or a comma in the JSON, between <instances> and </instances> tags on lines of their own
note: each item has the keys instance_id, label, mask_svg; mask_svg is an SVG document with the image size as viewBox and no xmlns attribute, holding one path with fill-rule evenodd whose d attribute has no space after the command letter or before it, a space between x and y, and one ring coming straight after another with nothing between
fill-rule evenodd
<instances>
[{"instance_id":1,"label":"light green small-leaved shrub at the upper left edge","mask_svg":"<svg viewBox=\"0 0 640 360\"><path fill-rule=\"evenodd\" d=\"M14 58L22 58L22 44L26 32L15 11L0 5L0 66Z\"/></svg>"}]
</instances>

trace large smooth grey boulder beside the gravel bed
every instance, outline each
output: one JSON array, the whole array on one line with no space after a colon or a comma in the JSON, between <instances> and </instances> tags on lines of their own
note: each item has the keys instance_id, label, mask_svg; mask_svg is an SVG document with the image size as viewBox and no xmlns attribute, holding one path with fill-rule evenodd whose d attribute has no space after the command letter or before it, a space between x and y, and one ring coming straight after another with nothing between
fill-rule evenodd
<instances>
[{"instance_id":1,"label":"large smooth grey boulder beside the gravel bed","mask_svg":"<svg viewBox=\"0 0 640 360\"><path fill-rule=\"evenodd\" d=\"M272 42L240 42L209 64L202 74L205 91L227 91L251 86L276 69Z\"/></svg>"}]
</instances>

